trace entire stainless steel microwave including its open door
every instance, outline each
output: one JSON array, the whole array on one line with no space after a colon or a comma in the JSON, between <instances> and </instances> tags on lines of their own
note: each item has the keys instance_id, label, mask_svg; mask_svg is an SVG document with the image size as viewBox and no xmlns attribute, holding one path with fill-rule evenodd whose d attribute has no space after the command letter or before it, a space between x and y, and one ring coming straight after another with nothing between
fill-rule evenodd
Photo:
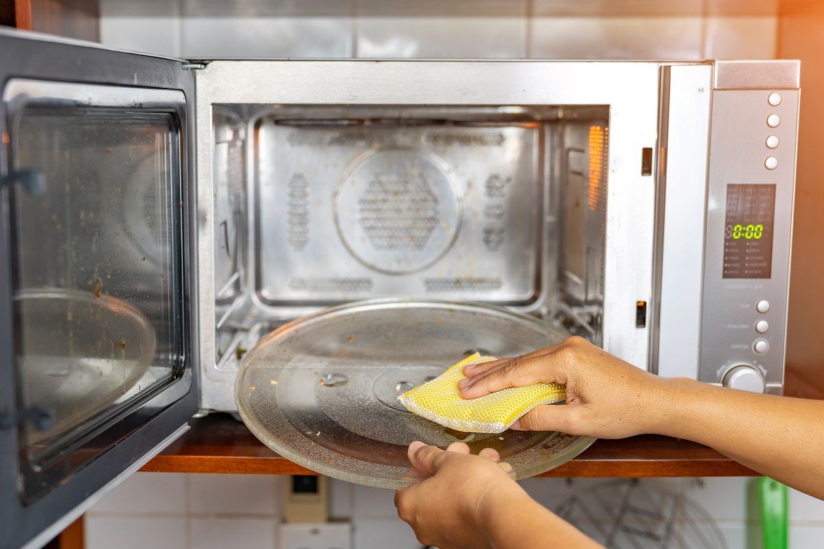
<instances>
[{"instance_id":1,"label":"entire stainless steel microwave including its open door","mask_svg":"<svg viewBox=\"0 0 824 549\"><path fill-rule=\"evenodd\" d=\"M781 393L798 62L0 55L2 549L349 301L499 305Z\"/></svg>"}]
</instances>

